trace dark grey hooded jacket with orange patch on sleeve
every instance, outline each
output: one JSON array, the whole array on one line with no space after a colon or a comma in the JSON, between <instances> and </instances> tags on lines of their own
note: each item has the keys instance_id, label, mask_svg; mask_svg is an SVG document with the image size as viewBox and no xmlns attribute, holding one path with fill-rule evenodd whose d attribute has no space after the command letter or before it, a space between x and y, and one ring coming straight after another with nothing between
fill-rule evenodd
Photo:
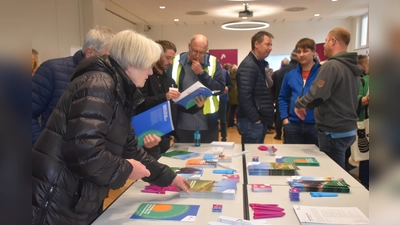
<instances>
[{"instance_id":1,"label":"dark grey hooded jacket with orange patch on sleeve","mask_svg":"<svg viewBox=\"0 0 400 225\"><path fill-rule=\"evenodd\" d=\"M348 132L357 129L357 106L362 69L357 53L342 52L325 62L307 95L296 100L297 108L313 109L317 129Z\"/></svg>"}]
</instances>

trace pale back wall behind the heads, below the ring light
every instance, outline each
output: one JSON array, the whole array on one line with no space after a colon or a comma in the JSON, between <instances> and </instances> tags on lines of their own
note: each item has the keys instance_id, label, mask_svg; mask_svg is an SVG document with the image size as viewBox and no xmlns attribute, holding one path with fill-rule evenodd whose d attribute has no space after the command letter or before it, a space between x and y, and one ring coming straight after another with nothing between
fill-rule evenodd
<instances>
[{"instance_id":1,"label":"pale back wall behind the heads, below the ring light","mask_svg":"<svg viewBox=\"0 0 400 225\"><path fill-rule=\"evenodd\" d=\"M316 43L325 42L328 32L338 26L343 26L352 32L351 19L321 20L321 21L293 21L271 23L266 31L271 32L273 50L271 54L290 54L298 40L304 37L314 39ZM151 26L151 30L144 32L148 37L158 40L166 39L175 43L178 53L188 50L188 42L193 34L204 34L209 41L209 49L238 49L238 62L247 56L251 49L251 37L257 31L228 31L219 25L160 25ZM353 34L352 34L353 35ZM349 50L352 50L352 43Z\"/></svg>"}]
</instances>

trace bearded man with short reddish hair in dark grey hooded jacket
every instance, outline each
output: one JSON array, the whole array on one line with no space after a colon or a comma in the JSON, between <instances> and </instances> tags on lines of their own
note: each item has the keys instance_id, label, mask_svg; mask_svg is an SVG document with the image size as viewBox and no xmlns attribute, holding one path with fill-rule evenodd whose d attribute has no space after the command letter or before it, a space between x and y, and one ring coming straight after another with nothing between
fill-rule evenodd
<instances>
[{"instance_id":1,"label":"bearded man with short reddish hair in dark grey hooded jacket","mask_svg":"<svg viewBox=\"0 0 400 225\"><path fill-rule=\"evenodd\" d=\"M304 120L306 109L313 109L318 129L319 149L342 168L345 152L356 140L360 77L357 53L347 52L350 32L337 27L325 38L325 62L310 91L295 102L295 112Z\"/></svg>"}]
</instances>

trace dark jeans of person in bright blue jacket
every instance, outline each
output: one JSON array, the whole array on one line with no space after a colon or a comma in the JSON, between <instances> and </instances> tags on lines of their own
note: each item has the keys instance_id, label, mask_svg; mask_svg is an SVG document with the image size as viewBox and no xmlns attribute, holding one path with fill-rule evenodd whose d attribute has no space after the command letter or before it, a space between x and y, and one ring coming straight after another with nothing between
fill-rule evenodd
<instances>
[{"instance_id":1,"label":"dark jeans of person in bright blue jacket","mask_svg":"<svg viewBox=\"0 0 400 225\"><path fill-rule=\"evenodd\" d=\"M289 122L283 125L285 144L314 144L318 143L318 132L315 124Z\"/></svg>"}]
</instances>

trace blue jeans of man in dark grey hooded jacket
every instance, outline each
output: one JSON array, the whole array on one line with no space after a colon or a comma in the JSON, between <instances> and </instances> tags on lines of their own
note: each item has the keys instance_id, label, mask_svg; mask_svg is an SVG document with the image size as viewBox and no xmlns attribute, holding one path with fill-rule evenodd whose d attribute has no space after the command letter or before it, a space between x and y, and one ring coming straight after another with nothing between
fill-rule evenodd
<instances>
[{"instance_id":1,"label":"blue jeans of man in dark grey hooded jacket","mask_svg":"<svg viewBox=\"0 0 400 225\"><path fill-rule=\"evenodd\" d=\"M319 150L325 152L333 161L343 169L345 168L345 153L356 140L356 136L343 138L332 138L330 134L324 131L318 131Z\"/></svg>"}]
</instances>

